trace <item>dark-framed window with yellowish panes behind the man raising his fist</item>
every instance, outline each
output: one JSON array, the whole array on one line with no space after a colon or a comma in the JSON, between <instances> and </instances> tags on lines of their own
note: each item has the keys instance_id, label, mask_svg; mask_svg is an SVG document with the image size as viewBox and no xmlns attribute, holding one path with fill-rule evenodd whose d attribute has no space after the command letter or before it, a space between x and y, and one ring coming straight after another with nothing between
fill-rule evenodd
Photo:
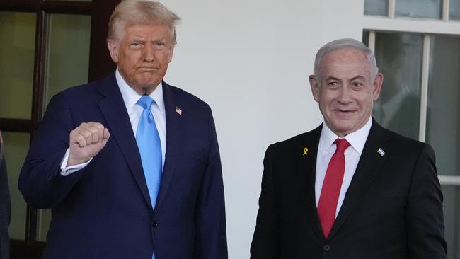
<instances>
[{"instance_id":1,"label":"dark-framed window with yellowish panes behind the man raising his fist","mask_svg":"<svg viewBox=\"0 0 460 259\"><path fill-rule=\"evenodd\" d=\"M28 206L18 175L54 93L88 81L91 0L0 1L0 129L11 192L11 258L38 258L50 212Z\"/></svg>"}]
</instances>

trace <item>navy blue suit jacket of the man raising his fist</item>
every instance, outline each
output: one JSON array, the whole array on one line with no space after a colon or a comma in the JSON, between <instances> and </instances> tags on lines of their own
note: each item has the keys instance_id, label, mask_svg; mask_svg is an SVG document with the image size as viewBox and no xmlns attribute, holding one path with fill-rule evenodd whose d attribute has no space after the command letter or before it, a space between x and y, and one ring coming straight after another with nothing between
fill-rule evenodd
<instances>
[{"instance_id":1,"label":"navy blue suit jacket of the man raising his fist","mask_svg":"<svg viewBox=\"0 0 460 259\"><path fill-rule=\"evenodd\" d=\"M222 169L209 105L163 82L166 161L156 207L115 74L52 98L19 179L33 207L52 209L42 258L226 258ZM176 107L182 115L176 113ZM69 132L101 122L110 139L62 176Z\"/></svg>"}]
</instances>

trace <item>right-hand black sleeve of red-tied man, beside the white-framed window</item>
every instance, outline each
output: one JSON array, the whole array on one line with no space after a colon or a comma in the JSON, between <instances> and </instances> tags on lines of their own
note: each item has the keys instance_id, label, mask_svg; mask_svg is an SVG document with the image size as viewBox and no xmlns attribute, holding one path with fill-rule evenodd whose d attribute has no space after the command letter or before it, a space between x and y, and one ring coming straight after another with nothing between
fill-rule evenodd
<instances>
[{"instance_id":1,"label":"right-hand black sleeve of red-tied man, beside the white-framed window","mask_svg":"<svg viewBox=\"0 0 460 259\"><path fill-rule=\"evenodd\" d=\"M442 192L430 145L422 147L415 164L406 217L410 258L447 258Z\"/></svg>"}]
</instances>

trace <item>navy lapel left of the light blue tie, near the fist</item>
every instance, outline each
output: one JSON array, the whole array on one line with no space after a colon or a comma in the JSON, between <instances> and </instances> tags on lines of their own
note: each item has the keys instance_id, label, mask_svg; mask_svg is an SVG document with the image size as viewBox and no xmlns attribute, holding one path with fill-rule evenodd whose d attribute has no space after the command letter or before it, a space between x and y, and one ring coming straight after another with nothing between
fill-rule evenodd
<instances>
[{"instance_id":1,"label":"navy lapel left of the light blue tie, near the fist","mask_svg":"<svg viewBox=\"0 0 460 259\"><path fill-rule=\"evenodd\" d=\"M115 75L104 79L99 91L105 96L100 100L99 108L108 124L106 127L110 131L110 139L115 139L118 146L120 146L120 150L130 166L131 173L136 179L137 185L139 185L142 196L151 207L141 156L132 132L130 117L127 114L120 89L117 87Z\"/></svg>"}]
</instances>

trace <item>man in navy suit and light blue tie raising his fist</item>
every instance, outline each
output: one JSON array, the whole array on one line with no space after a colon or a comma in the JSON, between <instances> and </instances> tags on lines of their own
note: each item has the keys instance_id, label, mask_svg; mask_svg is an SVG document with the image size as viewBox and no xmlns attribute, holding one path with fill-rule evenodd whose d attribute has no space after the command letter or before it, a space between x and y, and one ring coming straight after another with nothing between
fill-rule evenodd
<instances>
[{"instance_id":1,"label":"man in navy suit and light blue tie raising his fist","mask_svg":"<svg viewBox=\"0 0 460 259\"><path fill-rule=\"evenodd\" d=\"M122 1L115 73L52 98L19 179L30 205L52 209L42 258L227 258L211 110L162 80L179 19Z\"/></svg>"}]
</instances>

